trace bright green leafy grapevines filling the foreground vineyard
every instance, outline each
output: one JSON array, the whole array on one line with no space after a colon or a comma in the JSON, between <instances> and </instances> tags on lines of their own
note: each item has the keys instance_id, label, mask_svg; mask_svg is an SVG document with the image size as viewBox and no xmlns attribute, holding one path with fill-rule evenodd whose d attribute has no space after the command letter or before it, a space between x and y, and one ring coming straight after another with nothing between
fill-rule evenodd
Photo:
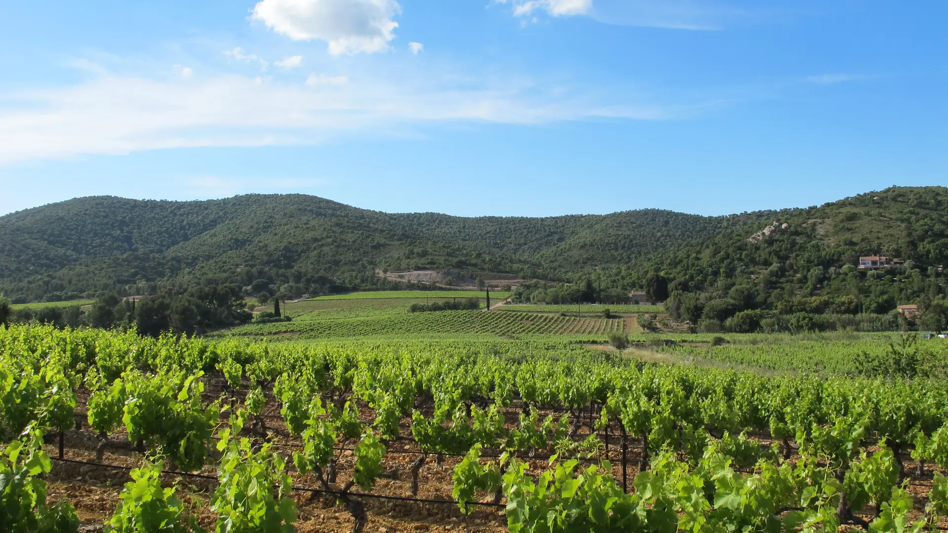
<instances>
[{"instance_id":1,"label":"bright green leafy grapevines filling the foreground vineyard","mask_svg":"<svg viewBox=\"0 0 948 533\"><path fill-rule=\"evenodd\" d=\"M297 504L287 496L293 478L283 456L259 434L237 437L249 414L263 412L268 383L274 383L271 397L282 403L287 428L303 436L294 463L323 487L333 483L323 469L331 469L335 444L358 439L352 479L337 491L356 531L365 524L365 510L350 489L374 489L386 456L376 429L392 435L400 421L410 421L406 432L425 452L466 453L452 476L452 493L465 512L493 493L506 500L508 528L520 533L815 533L843 524L904 533L934 529L948 511L948 480L939 471L918 509L899 483L907 473L898 460L902 451L932 462L930 469L948 468L948 395L941 378L764 376L642 364L549 340L273 345L35 326L0 330L0 364L14 371L6 379L14 399L23 394L17 380L27 369L63 376L68 386L51 395L65 395L65 403L82 382L111 398L142 387L147 376L155 384L146 387L169 388L188 418L202 410L210 412L206 419L215 418L218 406L190 403L200 390L186 393L181 373L195 383L202 372L220 370L229 383L250 383L243 405L231 403L228 427L217 432L216 449L223 454L210 511L219 533L293 530ZM114 376L119 384L108 384ZM341 409L338 401L323 407L327 394L345 401ZM173 400L162 396L126 399L123 419L163 410ZM27 404L34 413L45 409ZM375 416L362 422L361 410ZM561 415L540 416L540 410ZM106 409L103 418L114 418L115 411ZM503 423L518 411L516 426ZM599 413L594 424L593 412ZM574 440L582 435L571 423L583 424L587 414L590 434ZM182 432L205 434L201 427L188 429L186 418L178 425ZM602 457L604 445L592 433L608 427L641 443L642 468L628 490L619 487ZM216 462L207 452L210 439L185 440L200 444L180 447L187 455L182 463ZM146 447L167 451L159 440ZM501 457L483 464L482 448L501 450ZM13 464L17 450L9 449ZM547 466L529 458L537 450L551 454ZM593 463L581 465L580 458ZM42 472L42 460L31 471ZM167 524L180 524L173 494L144 481L124 500L153 494L160 499L155 511L168 517ZM45 516L28 492L10 502L26 509L25 517ZM871 522L853 514L868 508L876 511ZM71 509L64 510L69 519ZM125 511L119 508L118 516L134 518Z\"/></svg>"}]
</instances>

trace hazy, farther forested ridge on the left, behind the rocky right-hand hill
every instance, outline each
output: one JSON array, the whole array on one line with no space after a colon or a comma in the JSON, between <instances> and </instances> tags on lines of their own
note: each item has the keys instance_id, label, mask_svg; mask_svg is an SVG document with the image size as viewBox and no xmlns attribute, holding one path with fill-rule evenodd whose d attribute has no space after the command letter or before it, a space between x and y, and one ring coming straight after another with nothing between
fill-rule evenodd
<instances>
[{"instance_id":1,"label":"hazy, farther forested ridge on the left, behind the rocky right-hand hill","mask_svg":"<svg viewBox=\"0 0 948 533\"><path fill-rule=\"evenodd\" d=\"M38 301L209 278L319 292L372 285L375 267L570 280L710 238L729 224L659 210L551 218L391 214L302 194L193 202L84 197L0 217L0 293Z\"/></svg>"}]
</instances>

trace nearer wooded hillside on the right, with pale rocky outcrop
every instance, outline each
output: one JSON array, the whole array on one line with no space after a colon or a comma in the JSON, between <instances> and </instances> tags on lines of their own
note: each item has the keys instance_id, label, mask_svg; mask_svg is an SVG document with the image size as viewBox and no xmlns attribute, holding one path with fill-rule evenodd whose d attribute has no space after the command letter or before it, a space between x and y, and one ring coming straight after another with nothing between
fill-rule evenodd
<instances>
[{"instance_id":1,"label":"nearer wooded hillside on the right, with pale rocky outcrop","mask_svg":"<svg viewBox=\"0 0 948 533\"><path fill-rule=\"evenodd\" d=\"M693 324L713 322L712 328L732 331L752 328L754 322L763 329L792 330L791 324L763 322L778 316L799 315L798 321L807 321L824 313L891 312L887 328L945 328L945 188L886 189L819 208L779 211L772 220L781 225L759 239L752 240L752 231L746 229L727 230L700 245L652 258L646 269L660 271L668 280L667 307L673 317ZM786 229L783 224L788 225ZM904 267L860 270L858 260L863 255L885 255L905 263ZM906 323L894 313L897 305L907 303L921 305L919 321ZM757 310L763 313L745 315L728 327L731 317ZM848 325L852 324L834 320L824 328Z\"/></svg>"}]
</instances>

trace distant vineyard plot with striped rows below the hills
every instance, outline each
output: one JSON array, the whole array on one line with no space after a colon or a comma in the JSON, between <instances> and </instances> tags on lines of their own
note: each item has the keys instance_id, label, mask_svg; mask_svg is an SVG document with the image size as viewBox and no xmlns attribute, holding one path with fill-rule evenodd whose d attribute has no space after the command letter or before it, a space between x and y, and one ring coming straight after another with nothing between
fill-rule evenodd
<instances>
[{"instance_id":1,"label":"distant vineyard plot with striped rows below the hills","mask_svg":"<svg viewBox=\"0 0 948 533\"><path fill-rule=\"evenodd\" d=\"M293 335L322 339L407 334L608 335L623 332L622 319L572 318L556 315L497 313L484 311L439 311L433 313L379 313L353 319L319 320L319 313L303 315L294 322L249 324L229 330L235 336Z\"/></svg>"}]
</instances>

